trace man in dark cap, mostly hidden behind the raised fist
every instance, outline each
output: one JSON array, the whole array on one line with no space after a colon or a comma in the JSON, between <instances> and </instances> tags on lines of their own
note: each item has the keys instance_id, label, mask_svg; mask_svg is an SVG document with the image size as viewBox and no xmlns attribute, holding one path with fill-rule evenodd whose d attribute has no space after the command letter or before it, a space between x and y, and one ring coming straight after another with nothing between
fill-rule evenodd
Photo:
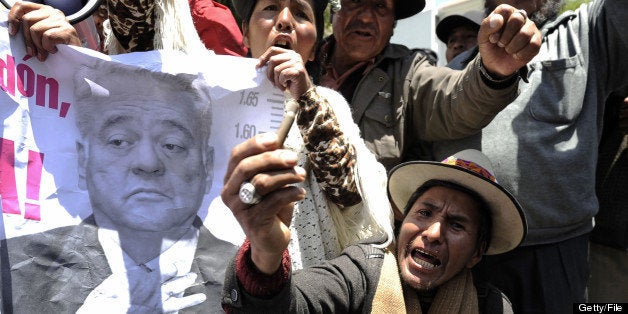
<instances>
[{"instance_id":1,"label":"man in dark cap, mostly hidden behind the raised fist","mask_svg":"<svg viewBox=\"0 0 628 314\"><path fill-rule=\"evenodd\" d=\"M445 51L447 63L478 44L478 30L483 19L482 11L471 10L462 15L446 16L438 22L436 36L447 46Z\"/></svg>"}]
</instances>

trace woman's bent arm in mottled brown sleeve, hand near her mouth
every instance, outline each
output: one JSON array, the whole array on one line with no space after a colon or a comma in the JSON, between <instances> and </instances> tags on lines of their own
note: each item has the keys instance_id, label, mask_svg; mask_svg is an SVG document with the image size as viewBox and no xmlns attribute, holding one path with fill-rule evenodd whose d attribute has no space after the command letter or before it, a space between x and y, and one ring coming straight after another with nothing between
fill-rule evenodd
<instances>
[{"instance_id":1,"label":"woman's bent arm in mottled brown sleeve, hand near her mouth","mask_svg":"<svg viewBox=\"0 0 628 314\"><path fill-rule=\"evenodd\" d=\"M317 93L301 56L293 50L270 47L258 66L268 65L267 76L287 90L299 104L297 125L316 181L340 207L362 201L356 185L356 151L340 128L328 100Z\"/></svg>"}]
</instances>

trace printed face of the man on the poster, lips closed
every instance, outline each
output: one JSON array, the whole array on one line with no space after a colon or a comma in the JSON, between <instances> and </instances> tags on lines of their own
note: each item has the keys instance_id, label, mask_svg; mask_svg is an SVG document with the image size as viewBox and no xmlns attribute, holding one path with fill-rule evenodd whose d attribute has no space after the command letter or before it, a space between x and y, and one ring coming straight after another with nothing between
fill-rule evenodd
<instances>
[{"instance_id":1,"label":"printed face of the man on the poster, lips closed","mask_svg":"<svg viewBox=\"0 0 628 314\"><path fill-rule=\"evenodd\" d=\"M103 104L79 143L79 175L96 218L115 228L168 231L191 225L206 192L207 144L191 105L159 95Z\"/></svg>"}]
</instances>

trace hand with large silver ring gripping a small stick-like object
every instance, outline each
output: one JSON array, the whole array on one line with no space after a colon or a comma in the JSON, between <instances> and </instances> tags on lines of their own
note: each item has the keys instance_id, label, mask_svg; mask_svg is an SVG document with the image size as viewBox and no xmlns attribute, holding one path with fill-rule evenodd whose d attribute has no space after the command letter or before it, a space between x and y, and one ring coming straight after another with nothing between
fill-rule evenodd
<instances>
[{"instance_id":1,"label":"hand with large silver ring gripping a small stick-like object","mask_svg":"<svg viewBox=\"0 0 628 314\"><path fill-rule=\"evenodd\" d=\"M277 146L277 136L265 133L234 147L220 194L250 241L255 267L266 274L279 268L290 242L294 202L305 198L303 189L290 185L305 180L305 170L296 165L297 154ZM244 182L253 184L259 203L242 202Z\"/></svg>"}]
</instances>

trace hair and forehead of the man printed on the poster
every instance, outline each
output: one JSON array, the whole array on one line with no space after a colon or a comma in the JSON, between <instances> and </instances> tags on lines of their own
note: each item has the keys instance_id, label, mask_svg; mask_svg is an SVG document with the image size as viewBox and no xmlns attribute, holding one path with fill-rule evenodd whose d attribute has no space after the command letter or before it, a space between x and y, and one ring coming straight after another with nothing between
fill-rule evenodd
<instances>
[{"instance_id":1,"label":"hair and forehead of the man printed on the poster","mask_svg":"<svg viewBox=\"0 0 628 314\"><path fill-rule=\"evenodd\" d=\"M85 74L76 81L75 90L77 124L84 135L111 116L146 125L170 117L197 132L205 132L203 120L210 123L210 100L200 91L195 76L119 67L110 75L93 69Z\"/></svg>"}]
</instances>

